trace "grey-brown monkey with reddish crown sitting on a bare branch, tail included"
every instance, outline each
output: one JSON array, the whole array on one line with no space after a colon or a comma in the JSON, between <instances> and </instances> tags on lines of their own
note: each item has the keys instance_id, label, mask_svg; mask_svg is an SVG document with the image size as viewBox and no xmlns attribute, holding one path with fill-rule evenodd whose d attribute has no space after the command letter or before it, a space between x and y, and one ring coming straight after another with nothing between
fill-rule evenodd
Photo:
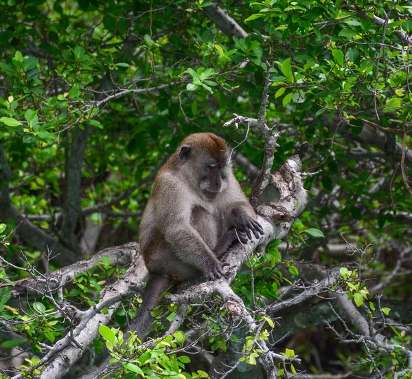
<instances>
[{"instance_id":1,"label":"grey-brown monkey with reddish crown sitting on a bare branch, tail included","mask_svg":"<svg viewBox=\"0 0 412 379\"><path fill-rule=\"evenodd\" d=\"M187 136L161 167L141 217L139 243L149 272L130 325L142 340L151 311L172 285L222 277L232 243L260 238L263 228L231 168L231 150L213 133Z\"/></svg>"}]
</instances>

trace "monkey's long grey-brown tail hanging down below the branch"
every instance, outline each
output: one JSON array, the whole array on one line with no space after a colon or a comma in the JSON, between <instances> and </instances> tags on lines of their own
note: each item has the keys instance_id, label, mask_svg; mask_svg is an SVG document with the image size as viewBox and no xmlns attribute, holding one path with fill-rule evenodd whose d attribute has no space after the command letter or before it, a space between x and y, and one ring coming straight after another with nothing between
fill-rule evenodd
<instances>
[{"instance_id":1,"label":"monkey's long grey-brown tail hanging down below the branch","mask_svg":"<svg viewBox=\"0 0 412 379\"><path fill-rule=\"evenodd\" d=\"M140 340L146 337L152 327L152 310L157 305L161 294L167 290L172 283L165 276L150 274L146 289L143 294L143 301L137 311L137 315L130 325L130 330L137 332Z\"/></svg>"}]
</instances>

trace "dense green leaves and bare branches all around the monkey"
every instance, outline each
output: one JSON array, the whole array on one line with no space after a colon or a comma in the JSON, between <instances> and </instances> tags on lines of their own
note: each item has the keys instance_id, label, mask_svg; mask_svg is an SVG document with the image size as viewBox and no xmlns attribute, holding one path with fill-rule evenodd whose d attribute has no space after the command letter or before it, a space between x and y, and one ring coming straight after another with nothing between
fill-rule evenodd
<instances>
[{"instance_id":1,"label":"dense green leaves and bare branches all around the monkey","mask_svg":"<svg viewBox=\"0 0 412 379\"><path fill-rule=\"evenodd\" d=\"M411 48L408 1L0 0L0 378L412 378ZM139 219L201 131L265 236L142 345Z\"/></svg>"}]
</instances>

